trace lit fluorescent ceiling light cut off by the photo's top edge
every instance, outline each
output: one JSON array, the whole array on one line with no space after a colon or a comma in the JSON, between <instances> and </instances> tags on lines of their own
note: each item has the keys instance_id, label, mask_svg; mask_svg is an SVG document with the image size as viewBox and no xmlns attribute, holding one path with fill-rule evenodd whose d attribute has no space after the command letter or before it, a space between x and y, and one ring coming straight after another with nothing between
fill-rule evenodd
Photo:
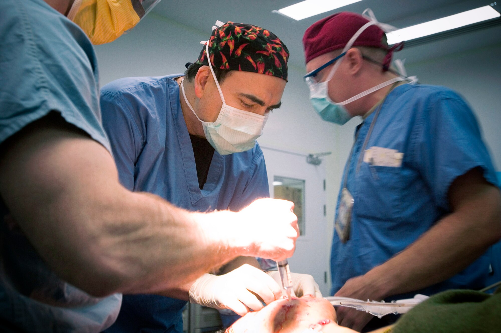
<instances>
[{"instance_id":1,"label":"lit fluorescent ceiling light cut off by the photo's top edge","mask_svg":"<svg viewBox=\"0 0 501 333\"><path fill-rule=\"evenodd\" d=\"M332 11L336 8L358 3L359 1L362 0L306 0L286 8L279 9L277 12L299 21L314 15Z\"/></svg>"}]
</instances>

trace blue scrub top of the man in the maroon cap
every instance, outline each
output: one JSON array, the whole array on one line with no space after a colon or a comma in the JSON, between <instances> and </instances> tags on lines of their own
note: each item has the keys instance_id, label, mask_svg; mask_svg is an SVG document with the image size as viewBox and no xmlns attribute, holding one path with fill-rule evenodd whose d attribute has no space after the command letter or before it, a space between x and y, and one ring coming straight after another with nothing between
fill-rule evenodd
<instances>
[{"instance_id":1,"label":"blue scrub top of the man in the maroon cap","mask_svg":"<svg viewBox=\"0 0 501 333\"><path fill-rule=\"evenodd\" d=\"M344 179L348 173L347 188L355 204L350 239L343 244L337 232L334 234L331 294L349 278L365 274L402 251L450 213L447 193L458 176L481 167L487 182L497 185L470 107L448 88L420 84L404 84L389 93L366 146L402 152L401 167L362 161L356 174L360 150L375 113L357 127L353 155L343 174ZM341 191L338 207L340 199ZM499 260L500 254L497 251L494 255L490 248L450 279L392 298L430 295L451 288L480 289L486 285L490 263ZM493 273L501 279L501 272Z\"/></svg>"}]
</instances>

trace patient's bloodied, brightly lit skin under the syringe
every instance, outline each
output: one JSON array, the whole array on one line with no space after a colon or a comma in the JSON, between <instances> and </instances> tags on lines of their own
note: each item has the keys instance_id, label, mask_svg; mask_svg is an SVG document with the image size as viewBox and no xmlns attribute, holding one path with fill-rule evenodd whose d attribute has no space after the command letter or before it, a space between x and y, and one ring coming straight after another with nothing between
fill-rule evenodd
<instances>
[{"instance_id":1,"label":"patient's bloodied, brightly lit skin under the syringe","mask_svg":"<svg viewBox=\"0 0 501 333\"><path fill-rule=\"evenodd\" d=\"M226 333L299 333L315 325L324 332L339 327L329 301L306 295L291 301L278 299L260 311L249 312L228 327Z\"/></svg>"}]
</instances>

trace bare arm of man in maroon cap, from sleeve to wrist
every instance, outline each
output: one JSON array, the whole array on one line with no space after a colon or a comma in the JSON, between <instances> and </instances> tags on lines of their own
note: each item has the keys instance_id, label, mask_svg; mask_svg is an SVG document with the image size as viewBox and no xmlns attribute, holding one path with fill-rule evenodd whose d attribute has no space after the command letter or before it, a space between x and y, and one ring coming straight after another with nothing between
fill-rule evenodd
<instances>
[{"instance_id":1,"label":"bare arm of man in maroon cap, from sleeve to wrist","mask_svg":"<svg viewBox=\"0 0 501 333\"><path fill-rule=\"evenodd\" d=\"M501 194L475 168L452 183L452 213L417 241L367 273L382 297L441 282L466 268L501 237Z\"/></svg>"}]
</instances>

